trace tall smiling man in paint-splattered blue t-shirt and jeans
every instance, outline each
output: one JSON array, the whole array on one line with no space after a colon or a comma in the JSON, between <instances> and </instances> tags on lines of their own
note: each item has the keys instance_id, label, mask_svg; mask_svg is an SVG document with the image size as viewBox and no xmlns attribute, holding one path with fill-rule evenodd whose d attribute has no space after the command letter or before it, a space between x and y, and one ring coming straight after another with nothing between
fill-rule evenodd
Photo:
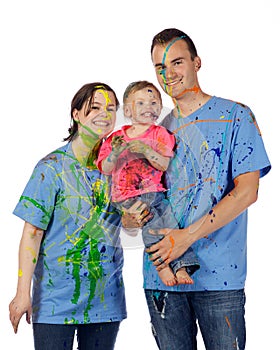
<instances>
[{"instance_id":1,"label":"tall smiling man in paint-splattered blue t-shirt and jeans","mask_svg":"<svg viewBox=\"0 0 280 350\"><path fill-rule=\"evenodd\" d=\"M161 350L193 350L198 322L207 350L241 350L247 208L271 165L250 108L200 88L201 60L188 35L163 30L153 38L151 55L158 82L174 102L162 125L177 139L166 181L181 227L154 232L165 237L144 256L153 333ZM190 246L201 266L194 284L165 286L156 268Z\"/></svg>"}]
</instances>

